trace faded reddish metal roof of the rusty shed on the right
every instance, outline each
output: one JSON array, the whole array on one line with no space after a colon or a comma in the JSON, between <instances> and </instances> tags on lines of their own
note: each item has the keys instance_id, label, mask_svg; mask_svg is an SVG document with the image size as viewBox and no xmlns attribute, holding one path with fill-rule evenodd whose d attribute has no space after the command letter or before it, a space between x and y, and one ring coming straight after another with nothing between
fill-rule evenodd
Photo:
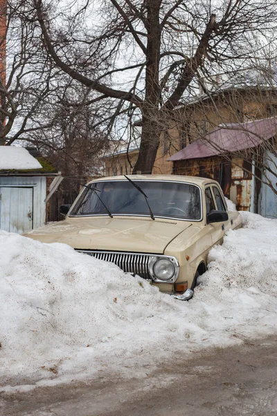
<instances>
[{"instance_id":1,"label":"faded reddish metal roof of the rusty shed on the right","mask_svg":"<svg viewBox=\"0 0 277 416\"><path fill-rule=\"evenodd\" d=\"M235 152L258 146L277 135L277 117L230 123L215 128L202 139L197 139L168 160L200 159L225 152Z\"/></svg>"}]
</instances>

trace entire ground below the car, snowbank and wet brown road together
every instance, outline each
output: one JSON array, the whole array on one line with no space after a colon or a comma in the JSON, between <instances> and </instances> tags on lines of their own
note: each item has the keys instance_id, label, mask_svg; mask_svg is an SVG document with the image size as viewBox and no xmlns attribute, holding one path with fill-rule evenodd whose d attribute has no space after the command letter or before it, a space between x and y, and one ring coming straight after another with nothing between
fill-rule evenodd
<instances>
[{"instance_id":1,"label":"entire ground below the car, snowbank and wet brown road together","mask_svg":"<svg viewBox=\"0 0 277 416\"><path fill-rule=\"evenodd\" d=\"M190 416L224 416L244 404L229 414L264 406L270 415L277 220L242 216L189 302L69 246L0 232L0 414L70 416L75 403L78 416L112 415L112 406L127 415L133 404L132 415L162 416L171 398L172 415L190 406Z\"/></svg>"}]
</instances>

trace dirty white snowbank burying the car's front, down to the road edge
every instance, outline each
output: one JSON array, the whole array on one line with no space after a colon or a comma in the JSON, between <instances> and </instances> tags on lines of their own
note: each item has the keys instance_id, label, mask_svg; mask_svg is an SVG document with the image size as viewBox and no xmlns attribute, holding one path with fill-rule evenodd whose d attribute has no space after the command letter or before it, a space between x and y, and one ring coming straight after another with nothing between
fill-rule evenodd
<instances>
[{"instance_id":1,"label":"dirty white snowbank burying the car's front, down to the road edge","mask_svg":"<svg viewBox=\"0 0 277 416\"><path fill-rule=\"evenodd\" d=\"M0 232L0 391L147 376L277 331L277 220L242 213L189 302L59 243Z\"/></svg>"}]
</instances>

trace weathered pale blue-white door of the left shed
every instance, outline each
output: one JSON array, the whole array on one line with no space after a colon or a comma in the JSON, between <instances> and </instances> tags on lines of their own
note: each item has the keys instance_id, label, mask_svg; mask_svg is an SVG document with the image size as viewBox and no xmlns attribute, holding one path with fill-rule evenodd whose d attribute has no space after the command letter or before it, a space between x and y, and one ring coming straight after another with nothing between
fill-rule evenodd
<instances>
[{"instance_id":1,"label":"weathered pale blue-white door of the left shed","mask_svg":"<svg viewBox=\"0 0 277 416\"><path fill-rule=\"evenodd\" d=\"M22 234L33 229L33 188L0 188L0 229Z\"/></svg>"}]
</instances>

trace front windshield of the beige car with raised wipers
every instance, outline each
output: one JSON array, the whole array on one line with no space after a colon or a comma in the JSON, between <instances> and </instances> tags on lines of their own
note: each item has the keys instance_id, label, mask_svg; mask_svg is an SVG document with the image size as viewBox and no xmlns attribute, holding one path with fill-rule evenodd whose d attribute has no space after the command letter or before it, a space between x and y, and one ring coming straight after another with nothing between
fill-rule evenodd
<instances>
[{"instance_id":1,"label":"front windshield of the beige car with raised wipers","mask_svg":"<svg viewBox=\"0 0 277 416\"><path fill-rule=\"evenodd\" d=\"M200 190L195 185L165 181L134 182L148 196L154 216L201 219ZM93 188L97 191L93 191ZM103 203L112 215L150 216L145 197L128 180L93 182L88 185L73 207L71 216L108 215Z\"/></svg>"}]
</instances>

